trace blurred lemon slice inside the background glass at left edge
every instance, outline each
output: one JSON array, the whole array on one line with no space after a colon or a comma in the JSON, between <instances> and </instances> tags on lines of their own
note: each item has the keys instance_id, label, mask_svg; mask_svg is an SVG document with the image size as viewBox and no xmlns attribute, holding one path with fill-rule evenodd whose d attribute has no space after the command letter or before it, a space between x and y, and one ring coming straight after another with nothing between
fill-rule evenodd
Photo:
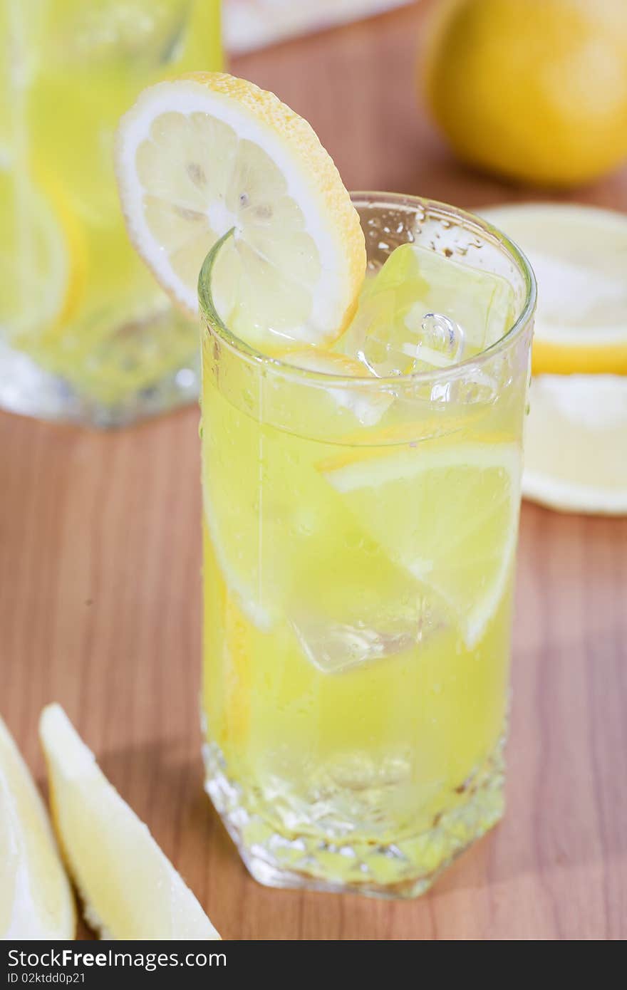
<instances>
[{"instance_id":1,"label":"blurred lemon slice inside the background glass at left edge","mask_svg":"<svg viewBox=\"0 0 627 990\"><path fill-rule=\"evenodd\" d=\"M62 327L83 291L80 226L52 180L0 171L0 328L29 343Z\"/></svg>"}]
</instances>

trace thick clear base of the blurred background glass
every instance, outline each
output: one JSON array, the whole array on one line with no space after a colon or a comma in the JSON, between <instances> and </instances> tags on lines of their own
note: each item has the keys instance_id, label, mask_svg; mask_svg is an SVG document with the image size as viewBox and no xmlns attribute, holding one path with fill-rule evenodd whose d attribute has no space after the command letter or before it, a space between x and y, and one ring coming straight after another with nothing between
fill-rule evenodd
<instances>
[{"instance_id":1,"label":"thick clear base of the blurred background glass","mask_svg":"<svg viewBox=\"0 0 627 990\"><path fill-rule=\"evenodd\" d=\"M106 404L0 342L0 408L41 420L99 429L129 426L196 402L199 382L199 361L193 358L150 387Z\"/></svg>"}]
</instances>

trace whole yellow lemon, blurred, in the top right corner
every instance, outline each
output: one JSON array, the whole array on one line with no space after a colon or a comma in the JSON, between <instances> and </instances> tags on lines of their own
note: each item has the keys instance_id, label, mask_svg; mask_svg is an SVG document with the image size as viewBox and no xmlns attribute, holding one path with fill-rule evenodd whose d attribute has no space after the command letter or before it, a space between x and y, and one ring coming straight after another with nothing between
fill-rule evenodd
<instances>
[{"instance_id":1,"label":"whole yellow lemon, blurred, in the top right corner","mask_svg":"<svg viewBox=\"0 0 627 990\"><path fill-rule=\"evenodd\" d=\"M441 0L428 103L458 155L574 186L627 157L627 0Z\"/></svg>"}]
</instances>

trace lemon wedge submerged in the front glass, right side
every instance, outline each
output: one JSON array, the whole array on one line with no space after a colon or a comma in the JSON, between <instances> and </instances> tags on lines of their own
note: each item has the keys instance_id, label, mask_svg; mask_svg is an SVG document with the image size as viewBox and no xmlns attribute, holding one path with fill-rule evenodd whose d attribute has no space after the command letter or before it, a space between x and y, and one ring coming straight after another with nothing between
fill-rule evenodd
<instances>
[{"instance_id":1,"label":"lemon wedge submerged in the front glass, right side","mask_svg":"<svg viewBox=\"0 0 627 990\"><path fill-rule=\"evenodd\" d=\"M449 603L471 648L511 573L519 460L512 444L419 445L320 469L389 557Z\"/></svg>"}]
</instances>

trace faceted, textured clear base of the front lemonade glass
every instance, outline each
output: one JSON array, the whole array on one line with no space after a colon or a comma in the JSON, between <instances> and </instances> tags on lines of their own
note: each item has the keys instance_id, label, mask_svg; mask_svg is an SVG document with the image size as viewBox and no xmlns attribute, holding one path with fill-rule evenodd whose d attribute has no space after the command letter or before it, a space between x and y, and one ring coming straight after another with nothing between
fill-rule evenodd
<instances>
[{"instance_id":1,"label":"faceted, textured clear base of the front lemonade glass","mask_svg":"<svg viewBox=\"0 0 627 990\"><path fill-rule=\"evenodd\" d=\"M503 741L472 777L460 783L455 806L436 816L427 832L389 844L330 841L323 834L278 834L242 801L228 779L218 746L207 744L205 789L249 871L268 887L297 887L372 897L423 894L438 874L502 817Z\"/></svg>"}]
</instances>

